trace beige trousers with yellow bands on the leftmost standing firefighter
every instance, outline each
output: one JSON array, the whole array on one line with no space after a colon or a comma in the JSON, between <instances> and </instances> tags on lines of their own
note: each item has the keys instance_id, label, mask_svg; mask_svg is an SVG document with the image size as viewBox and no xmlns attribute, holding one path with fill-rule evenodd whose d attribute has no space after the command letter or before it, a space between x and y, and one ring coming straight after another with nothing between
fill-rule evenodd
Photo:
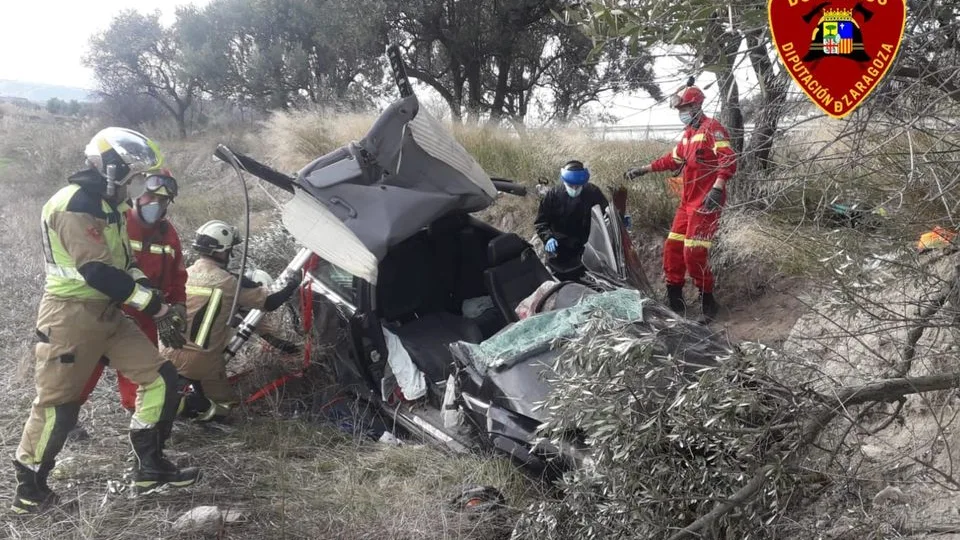
<instances>
[{"instance_id":1,"label":"beige trousers with yellow bands on the leftmost standing firefighter","mask_svg":"<svg viewBox=\"0 0 960 540\"><path fill-rule=\"evenodd\" d=\"M77 423L84 386L101 362L138 385L131 429L172 421L180 405L177 370L118 307L44 295L37 316L37 396L16 458L53 461Z\"/></svg>"}]
</instances>

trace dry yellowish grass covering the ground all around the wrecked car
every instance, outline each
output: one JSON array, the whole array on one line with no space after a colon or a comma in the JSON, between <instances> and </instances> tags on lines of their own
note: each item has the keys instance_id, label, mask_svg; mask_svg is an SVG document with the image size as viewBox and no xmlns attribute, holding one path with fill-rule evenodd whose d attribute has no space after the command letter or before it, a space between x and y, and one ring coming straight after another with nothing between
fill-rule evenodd
<instances>
[{"instance_id":1,"label":"dry yellowish grass covering the ground all around the wrecked car","mask_svg":"<svg viewBox=\"0 0 960 540\"><path fill-rule=\"evenodd\" d=\"M0 354L8 361L20 361L19 370L8 370L0 377L4 396L0 444L11 455L33 397L30 340L42 288L35 226L40 206L81 163L83 146L102 126L55 126L15 109L3 112L0 227L10 232L0 235ZM323 111L282 113L252 133L161 139L168 166L181 181L182 195L171 212L184 243L189 244L192 231L208 219L242 224L237 179L229 167L211 157L217 143L293 172L340 144L361 138L372 121L372 117L333 117ZM622 171L669 148L657 142L600 142L577 130L534 131L522 139L478 128L458 128L455 134L492 176L512 178L530 188L527 197L503 195L480 214L495 226L527 238L532 236L538 204L536 182L539 178L555 182L565 161L585 161L595 181L611 188L621 184ZM796 182L796 171L790 174L783 179L785 184ZM829 182L812 184L818 193L830 189ZM276 274L295 246L277 228L270 197L256 186L256 180L248 178L248 185L255 231L251 262ZM784 190L783 200L807 196L806 180L799 186ZM663 175L645 177L628 188L639 248L648 258L651 280L658 282L660 246L676 201L667 193ZM778 204L785 208L786 203ZM806 218L805 213L799 215L801 220ZM775 216L743 209L726 213L713 257L718 287L731 301L748 298L748 293L762 289L778 274L806 275L821 269L817 261L824 250L833 249L835 239L805 221L791 222L792 217L789 211ZM296 359L258 360L247 390L296 366ZM536 487L501 459L451 457L428 447L395 448L323 427L302 413L315 411L318 396L325 396L328 389L302 385L291 385L282 396L241 411L241 421L228 432L178 427L173 448L206 471L206 479L195 489L145 500L108 496L106 480L120 478L125 466L122 456L129 449L123 438L126 419L114 388L109 374L82 413L93 441L68 445L60 476L54 481L62 495L79 497L79 513L7 522L0 525L2 535L170 537L170 524L182 512L215 504L245 515L242 522L227 528L225 538L493 538L503 530L502 524L477 525L444 510L462 484L497 486L516 508L539 496ZM0 491L12 490L12 472L0 474Z\"/></svg>"}]
</instances>

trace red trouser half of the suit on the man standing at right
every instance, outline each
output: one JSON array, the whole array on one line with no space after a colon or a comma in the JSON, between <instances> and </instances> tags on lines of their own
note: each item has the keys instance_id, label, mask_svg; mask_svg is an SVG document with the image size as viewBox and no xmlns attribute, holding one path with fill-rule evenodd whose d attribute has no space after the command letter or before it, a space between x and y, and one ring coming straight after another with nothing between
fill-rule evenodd
<instances>
[{"instance_id":1,"label":"red trouser half of the suit on the man standing at right","mask_svg":"<svg viewBox=\"0 0 960 540\"><path fill-rule=\"evenodd\" d=\"M713 292L713 272L707 254L719 222L720 210L705 212L699 208L677 208L663 246L663 272L667 285L682 286L689 274L698 289Z\"/></svg>"}]
</instances>

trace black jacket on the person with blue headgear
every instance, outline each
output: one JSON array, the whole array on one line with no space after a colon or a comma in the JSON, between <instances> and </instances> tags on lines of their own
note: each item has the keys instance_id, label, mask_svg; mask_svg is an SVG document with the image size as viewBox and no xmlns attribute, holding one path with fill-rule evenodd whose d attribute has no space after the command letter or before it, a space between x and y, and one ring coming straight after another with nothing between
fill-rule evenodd
<instances>
[{"instance_id":1,"label":"black jacket on the person with blue headgear","mask_svg":"<svg viewBox=\"0 0 960 540\"><path fill-rule=\"evenodd\" d=\"M544 245L557 239L557 263L579 259L590 237L590 209L595 205L606 211L609 202L603 191L593 184L585 184L579 197L567 195L563 184L553 187L540 201L540 210L534 227Z\"/></svg>"}]
</instances>

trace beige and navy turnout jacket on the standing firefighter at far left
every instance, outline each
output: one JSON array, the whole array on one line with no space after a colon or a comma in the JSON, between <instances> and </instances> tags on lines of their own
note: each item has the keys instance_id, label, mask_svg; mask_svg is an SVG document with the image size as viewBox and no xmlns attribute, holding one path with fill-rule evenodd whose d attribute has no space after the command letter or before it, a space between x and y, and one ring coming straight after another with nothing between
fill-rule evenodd
<instances>
[{"instance_id":1,"label":"beige and navy turnout jacket on the standing firefighter at far left","mask_svg":"<svg viewBox=\"0 0 960 540\"><path fill-rule=\"evenodd\" d=\"M136 264L124 215L128 205L105 198L106 182L94 169L77 172L68 182L41 213L44 294L156 314L161 298L146 286Z\"/></svg>"}]
</instances>

